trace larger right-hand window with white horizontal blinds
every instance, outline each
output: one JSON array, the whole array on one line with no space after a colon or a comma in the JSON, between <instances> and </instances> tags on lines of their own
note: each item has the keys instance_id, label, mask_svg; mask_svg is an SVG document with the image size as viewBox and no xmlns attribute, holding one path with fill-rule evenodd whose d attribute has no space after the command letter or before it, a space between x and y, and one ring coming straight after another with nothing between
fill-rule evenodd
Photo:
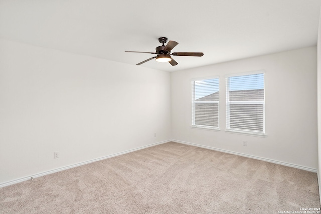
<instances>
[{"instance_id":1,"label":"larger right-hand window with white horizontal blinds","mask_svg":"<svg viewBox=\"0 0 321 214\"><path fill-rule=\"evenodd\" d=\"M265 134L264 73L226 77L226 129Z\"/></svg>"}]
</instances>

